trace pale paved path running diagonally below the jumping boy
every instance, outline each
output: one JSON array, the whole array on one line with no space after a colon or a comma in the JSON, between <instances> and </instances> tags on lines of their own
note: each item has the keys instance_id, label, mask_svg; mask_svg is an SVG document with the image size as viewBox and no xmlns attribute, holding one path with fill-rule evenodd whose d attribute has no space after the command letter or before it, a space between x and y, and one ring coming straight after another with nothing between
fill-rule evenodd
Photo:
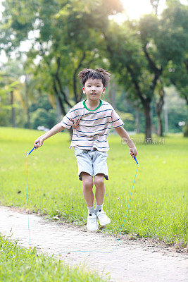
<instances>
[{"instance_id":1,"label":"pale paved path running diagonally below the jumping boy","mask_svg":"<svg viewBox=\"0 0 188 282\"><path fill-rule=\"evenodd\" d=\"M185 282L186 254L170 252L166 247L146 243L120 240L118 248L110 253L69 252L71 250L113 250L118 236L89 233L83 227L68 223L55 223L30 214L30 238L32 247L48 255L61 254L65 263L84 264L104 277L110 274L115 282ZM27 229L27 214L0 207L0 232L18 244L30 247ZM59 256L58 256L59 257ZM187 273L188 274L188 273Z\"/></svg>"}]
</instances>

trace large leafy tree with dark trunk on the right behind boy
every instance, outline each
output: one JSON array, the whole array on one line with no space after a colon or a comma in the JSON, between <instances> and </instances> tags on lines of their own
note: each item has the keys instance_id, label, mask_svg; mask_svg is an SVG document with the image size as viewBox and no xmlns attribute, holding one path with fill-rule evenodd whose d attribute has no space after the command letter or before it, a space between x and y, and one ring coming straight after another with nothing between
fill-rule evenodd
<instances>
[{"instance_id":1,"label":"large leafy tree with dark trunk on the right behind boy","mask_svg":"<svg viewBox=\"0 0 188 282\"><path fill-rule=\"evenodd\" d=\"M112 23L104 32L111 68L119 74L119 81L130 92L131 99L139 99L146 119L145 135L149 140L151 100L169 63L180 66L185 58L187 18L187 9L177 2L169 6L161 18L151 14L139 22L126 21L122 26ZM158 105L158 111L161 109Z\"/></svg>"}]
</instances>

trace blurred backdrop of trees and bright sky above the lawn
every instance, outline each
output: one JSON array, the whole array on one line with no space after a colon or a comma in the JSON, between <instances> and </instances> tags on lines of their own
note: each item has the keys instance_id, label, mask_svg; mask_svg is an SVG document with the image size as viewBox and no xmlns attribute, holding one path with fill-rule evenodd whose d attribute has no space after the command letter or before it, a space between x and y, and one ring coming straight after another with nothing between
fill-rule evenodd
<instances>
[{"instance_id":1,"label":"blurred backdrop of trees and bright sky above the lawn","mask_svg":"<svg viewBox=\"0 0 188 282\"><path fill-rule=\"evenodd\" d=\"M0 11L0 126L48 130L86 99L77 73L104 68L101 99L128 132L188 135L187 1L1 0Z\"/></svg>"}]
</instances>

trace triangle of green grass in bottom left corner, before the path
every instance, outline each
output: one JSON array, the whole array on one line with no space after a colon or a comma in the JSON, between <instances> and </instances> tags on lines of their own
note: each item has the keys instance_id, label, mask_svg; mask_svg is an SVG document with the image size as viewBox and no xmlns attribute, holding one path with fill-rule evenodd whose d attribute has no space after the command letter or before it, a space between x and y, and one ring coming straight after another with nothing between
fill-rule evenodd
<instances>
[{"instance_id":1,"label":"triangle of green grass in bottom left corner, before the path","mask_svg":"<svg viewBox=\"0 0 188 282\"><path fill-rule=\"evenodd\" d=\"M98 282L105 281L98 274L86 272L81 266L70 267L54 257L37 255L0 235L1 282Z\"/></svg>"}]
</instances>

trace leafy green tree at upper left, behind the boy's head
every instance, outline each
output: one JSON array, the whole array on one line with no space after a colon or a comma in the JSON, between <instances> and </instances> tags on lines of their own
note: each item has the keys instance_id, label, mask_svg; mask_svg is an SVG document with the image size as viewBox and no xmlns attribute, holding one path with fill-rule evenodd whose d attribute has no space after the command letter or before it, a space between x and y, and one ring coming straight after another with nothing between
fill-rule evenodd
<instances>
[{"instance_id":1,"label":"leafy green tree at upper left, behind the boy's head","mask_svg":"<svg viewBox=\"0 0 188 282\"><path fill-rule=\"evenodd\" d=\"M20 0L15 6L13 0L8 0L4 6L1 46L11 54L31 31L38 31L32 48L26 52L27 73L40 78L40 90L56 95L65 115L82 99L77 73L83 66L95 67L99 63L99 27L108 24L108 15L122 9L120 1L28 0L26 4ZM37 57L40 61L36 67Z\"/></svg>"}]
</instances>

